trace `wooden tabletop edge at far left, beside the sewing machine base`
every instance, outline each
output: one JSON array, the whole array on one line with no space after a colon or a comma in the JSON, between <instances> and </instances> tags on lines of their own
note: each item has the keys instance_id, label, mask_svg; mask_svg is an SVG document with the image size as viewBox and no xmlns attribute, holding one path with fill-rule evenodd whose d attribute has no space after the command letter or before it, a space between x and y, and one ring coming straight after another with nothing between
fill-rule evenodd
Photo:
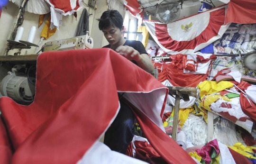
<instances>
[{"instance_id":1,"label":"wooden tabletop edge at far left, beside the sewing machine base","mask_svg":"<svg viewBox=\"0 0 256 164\"><path fill-rule=\"evenodd\" d=\"M38 55L8 55L0 56L0 62L25 62L25 61L37 61Z\"/></svg>"}]
</instances>

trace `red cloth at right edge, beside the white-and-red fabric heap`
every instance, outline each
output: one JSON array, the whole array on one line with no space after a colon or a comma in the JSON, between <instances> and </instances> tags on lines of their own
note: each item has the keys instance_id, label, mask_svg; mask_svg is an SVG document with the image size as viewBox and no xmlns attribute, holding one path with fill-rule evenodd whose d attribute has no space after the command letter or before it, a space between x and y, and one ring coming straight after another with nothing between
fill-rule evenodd
<instances>
[{"instance_id":1,"label":"red cloth at right edge, beside the white-and-red fabric heap","mask_svg":"<svg viewBox=\"0 0 256 164\"><path fill-rule=\"evenodd\" d=\"M240 105L247 116L256 120L256 104L250 99L247 100L242 92L240 93Z\"/></svg>"}]
</instances>

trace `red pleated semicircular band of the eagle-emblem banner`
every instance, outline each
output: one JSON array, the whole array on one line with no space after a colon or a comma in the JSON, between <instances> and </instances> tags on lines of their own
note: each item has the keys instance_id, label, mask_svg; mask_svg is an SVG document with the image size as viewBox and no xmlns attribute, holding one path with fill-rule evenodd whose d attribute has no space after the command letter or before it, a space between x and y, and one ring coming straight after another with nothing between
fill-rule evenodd
<instances>
[{"instance_id":1,"label":"red pleated semicircular band of the eagle-emblem banner","mask_svg":"<svg viewBox=\"0 0 256 164\"><path fill-rule=\"evenodd\" d=\"M155 36L158 42L172 51L194 49L201 43L206 43L210 38L218 36L220 27L224 24L225 8L210 12L210 22L201 34L190 41L176 41L168 34L167 24L155 23Z\"/></svg>"}]
</instances>

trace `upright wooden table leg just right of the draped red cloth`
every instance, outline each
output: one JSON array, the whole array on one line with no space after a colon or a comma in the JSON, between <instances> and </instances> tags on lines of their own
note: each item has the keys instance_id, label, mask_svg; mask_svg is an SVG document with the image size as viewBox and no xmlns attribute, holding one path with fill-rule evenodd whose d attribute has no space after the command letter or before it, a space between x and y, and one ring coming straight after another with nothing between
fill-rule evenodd
<instances>
[{"instance_id":1,"label":"upright wooden table leg just right of the draped red cloth","mask_svg":"<svg viewBox=\"0 0 256 164\"><path fill-rule=\"evenodd\" d=\"M179 123L179 110L180 110L180 93L176 91L175 105L174 105L174 123L172 138L177 142L178 123Z\"/></svg>"}]
</instances>

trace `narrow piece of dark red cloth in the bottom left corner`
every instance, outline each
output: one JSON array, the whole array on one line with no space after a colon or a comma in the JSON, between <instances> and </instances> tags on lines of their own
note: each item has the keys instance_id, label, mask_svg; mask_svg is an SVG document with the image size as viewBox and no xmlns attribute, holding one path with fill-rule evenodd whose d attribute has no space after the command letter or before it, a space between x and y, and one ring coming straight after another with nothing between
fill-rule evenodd
<instances>
[{"instance_id":1,"label":"narrow piece of dark red cloth in the bottom left corner","mask_svg":"<svg viewBox=\"0 0 256 164\"><path fill-rule=\"evenodd\" d=\"M10 164L12 157L12 150L9 143L9 138L6 129L0 118L0 164Z\"/></svg>"}]
</instances>

